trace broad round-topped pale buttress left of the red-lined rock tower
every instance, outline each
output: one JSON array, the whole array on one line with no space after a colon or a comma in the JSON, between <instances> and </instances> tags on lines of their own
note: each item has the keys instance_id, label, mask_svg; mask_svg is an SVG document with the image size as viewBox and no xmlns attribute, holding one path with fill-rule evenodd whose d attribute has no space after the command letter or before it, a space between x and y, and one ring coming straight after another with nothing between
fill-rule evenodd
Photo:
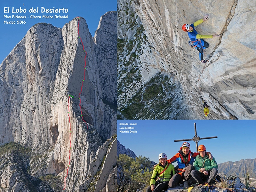
<instances>
[{"instance_id":1,"label":"broad round-topped pale buttress left of the red-lined rock tower","mask_svg":"<svg viewBox=\"0 0 256 192\"><path fill-rule=\"evenodd\" d=\"M54 145L48 136L50 130L45 127L49 127L49 109L62 48L61 29L39 23L28 30L2 62L1 145L19 141L42 150Z\"/></svg>"}]
</instances>

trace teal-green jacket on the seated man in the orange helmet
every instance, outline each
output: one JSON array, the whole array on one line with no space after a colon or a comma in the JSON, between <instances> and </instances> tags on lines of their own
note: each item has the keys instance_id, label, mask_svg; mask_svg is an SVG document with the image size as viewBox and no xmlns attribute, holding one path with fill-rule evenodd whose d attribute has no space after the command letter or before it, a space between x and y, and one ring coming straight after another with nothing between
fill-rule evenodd
<instances>
[{"instance_id":1,"label":"teal-green jacket on the seated man in the orange helmet","mask_svg":"<svg viewBox=\"0 0 256 192\"><path fill-rule=\"evenodd\" d=\"M195 170L199 171L200 168L205 168L206 171L210 171L213 168L218 169L218 164L216 163L215 159L213 158L212 161L209 159L209 156L205 154L204 158L200 155L196 156L194 162Z\"/></svg>"}]
</instances>

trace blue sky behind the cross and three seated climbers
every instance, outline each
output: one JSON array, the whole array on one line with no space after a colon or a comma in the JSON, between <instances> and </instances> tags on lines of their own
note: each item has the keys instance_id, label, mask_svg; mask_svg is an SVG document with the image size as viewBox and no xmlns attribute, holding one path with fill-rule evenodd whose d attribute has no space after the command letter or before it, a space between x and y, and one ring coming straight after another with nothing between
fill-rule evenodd
<instances>
[{"instance_id":1,"label":"blue sky behind the cross and three seated climbers","mask_svg":"<svg viewBox=\"0 0 256 192\"><path fill-rule=\"evenodd\" d=\"M119 123L137 123L137 133L119 133ZM147 156L158 162L158 154L166 153L168 159L174 156L183 142L174 140L214 137L200 140L210 151L217 163L256 158L256 120L117 120L117 140L139 156ZM129 126L128 126L129 127ZM192 152L196 143L188 141Z\"/></svg>"}]
</instances>

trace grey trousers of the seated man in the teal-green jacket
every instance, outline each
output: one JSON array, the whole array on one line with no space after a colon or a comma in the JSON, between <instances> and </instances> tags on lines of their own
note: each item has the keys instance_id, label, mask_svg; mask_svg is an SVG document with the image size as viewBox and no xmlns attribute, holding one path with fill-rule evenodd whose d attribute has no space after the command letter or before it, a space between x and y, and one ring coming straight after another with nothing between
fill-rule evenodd
<instances>
[{"instance_id":1,"label":"grey trousers of the seated man in the teal-green jacket","mask_svg":"<svg viewBox=\"0 0 256 192\"><path fill-rule=\"evenodd\" d=\"M218 173L218 169L213 168L211 171L208 171L209 175L204 175L204 173L200 173L197 170L192 170L191 175L192 177L199 183L204 184L206 181L207 183L212 183L214 178Z\"/></svg>"}]
</instances>

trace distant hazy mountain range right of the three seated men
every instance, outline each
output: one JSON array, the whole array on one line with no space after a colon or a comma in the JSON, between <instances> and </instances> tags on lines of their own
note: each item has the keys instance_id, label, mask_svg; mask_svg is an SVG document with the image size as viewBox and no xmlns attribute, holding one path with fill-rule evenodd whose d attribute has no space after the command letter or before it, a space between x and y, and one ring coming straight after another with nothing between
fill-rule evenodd
<instances>
[{"instance_id":1,"label":"distant hazy mountain range right of the three seated men","mask_svg":"<svg viewBox=\"0 0 256 192\"><path fill-rule=\"evenodd\" d=\"M252 174L252 177L256 177L256 158L255 159L241 159L240 161L227 161L225 163L218 164L219 173L225 175L237 175L239 178L243 178L243 170L247 168L247 172Z\"/></svg>"}]
</instances>

